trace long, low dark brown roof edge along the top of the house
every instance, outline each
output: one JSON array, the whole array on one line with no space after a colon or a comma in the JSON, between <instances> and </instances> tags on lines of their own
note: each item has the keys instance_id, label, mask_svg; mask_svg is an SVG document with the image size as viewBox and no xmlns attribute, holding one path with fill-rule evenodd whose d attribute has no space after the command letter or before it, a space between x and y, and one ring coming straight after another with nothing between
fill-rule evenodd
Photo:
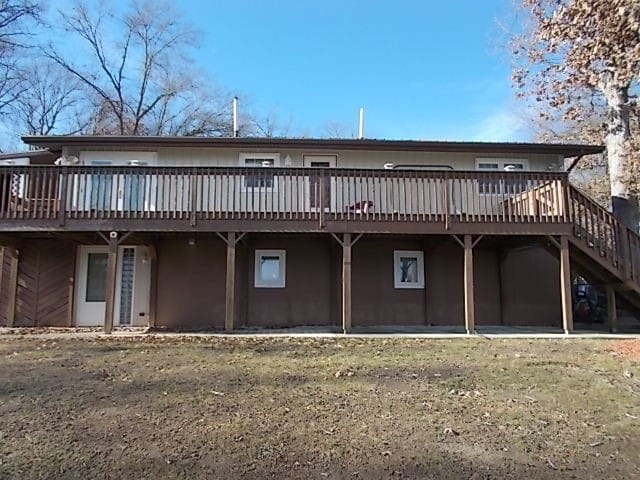
<instances>
[{"instance_id":1,"label":"long, low dark brown roof edge along the top of the house","mask_svg":"<svg viewBox=\"0 0 640 480\"><path fill-rule=\"evenodd\" d=\"M153 137L120 135L25 136L22 140L39 148L59 151L74 147L197 147L197 148L299 148L317 150L371 150L411 152L539 153L575 157L604 151L601 145L553 143L446 142L424 140L249 138L249 137Z\"/></svg>"}]
</instances>

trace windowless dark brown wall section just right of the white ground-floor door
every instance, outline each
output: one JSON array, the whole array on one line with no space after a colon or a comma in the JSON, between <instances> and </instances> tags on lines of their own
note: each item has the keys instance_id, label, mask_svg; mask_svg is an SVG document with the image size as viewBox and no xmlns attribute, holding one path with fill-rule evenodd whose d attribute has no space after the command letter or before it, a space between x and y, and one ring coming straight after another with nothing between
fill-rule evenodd
<instances>
[{"instance_id":1,"label":"windowless dark brown wall section just right of the white ground-floor door","mask_svg":"<svg viewBox=\"0 0 640 480\"><path fill-rule=\"evenodd\" d=\"M226 246L214 237L157 243L157 326L224 328Z\"/></svg>"}]
</instances>

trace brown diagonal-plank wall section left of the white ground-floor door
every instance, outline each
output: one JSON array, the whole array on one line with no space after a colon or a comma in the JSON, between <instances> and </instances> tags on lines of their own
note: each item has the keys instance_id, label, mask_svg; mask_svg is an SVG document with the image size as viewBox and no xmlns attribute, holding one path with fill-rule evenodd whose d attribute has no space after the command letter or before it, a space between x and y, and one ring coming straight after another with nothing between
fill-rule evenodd
<instances>
[{"instance_id":1,"label":"brown diagonal-plank wall section left of the white ground-floor door","mask_svg":"<svg viewBox=\"0 0 640 480\"><path fill-rule=\"evenodd\" d=\"M15 326L69 326L75 246L25 240L19 249Z\"/></svg>"}]
</instances>

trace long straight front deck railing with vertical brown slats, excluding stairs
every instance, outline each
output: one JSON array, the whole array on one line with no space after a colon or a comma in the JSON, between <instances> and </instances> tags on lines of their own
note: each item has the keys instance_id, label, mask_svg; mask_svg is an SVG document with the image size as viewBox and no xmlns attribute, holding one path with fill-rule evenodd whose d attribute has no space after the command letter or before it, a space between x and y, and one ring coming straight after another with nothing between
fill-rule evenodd
<instances>
[{"instance_id":1,"label":"long straight front deck railing with vertical brown slats, excluding stairs","mask_svg":"<svg viewBox=\"0 0 640 480\"><path fill-rule=\"evenodd\" d=\"M0 220L566 223L567 177L279 167L0 167Z\"/></svg>"}]
</instances>

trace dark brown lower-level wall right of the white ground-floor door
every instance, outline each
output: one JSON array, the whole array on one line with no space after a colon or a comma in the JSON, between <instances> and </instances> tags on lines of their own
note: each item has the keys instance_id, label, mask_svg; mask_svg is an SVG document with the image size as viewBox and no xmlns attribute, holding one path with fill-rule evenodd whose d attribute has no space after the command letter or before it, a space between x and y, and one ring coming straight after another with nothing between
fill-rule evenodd
<instances>
[{"instance_id":1,"label":"dark brown lower-level wall right of the white ground-floor door","mask_svg":"<svg viewBox=\"0 0 640 480\"><path fill-rule=\"evenodd\" d=\"M284 289L254 287L256 249L286 250ZM394 250L425 252L426 289L394 288ZM236 326L340 325L341 255L328 236L245 236L236 253ZM157 325L222 329L225 269L226 246L215 237L159 242ZM463 250L450 238L365 236L352 269L354 327L464 324ZM559 324L559 266L545 250L501 253L480 242L474 271L477 325Z\"/></svg>"}]
</instances>

